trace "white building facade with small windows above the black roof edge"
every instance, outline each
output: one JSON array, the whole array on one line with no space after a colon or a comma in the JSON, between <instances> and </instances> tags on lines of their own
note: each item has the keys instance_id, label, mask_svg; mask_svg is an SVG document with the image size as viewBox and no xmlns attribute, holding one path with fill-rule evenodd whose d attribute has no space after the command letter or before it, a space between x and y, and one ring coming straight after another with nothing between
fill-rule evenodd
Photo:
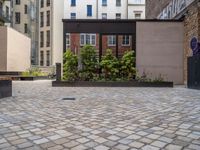
<instances>
[{"instance_id":1,"label":"white building facade with small windows above the black roof edge","mask_svg":"<svg viewBox=\"0 0 200 150\"><path fill-rule=\"evenodd\" d=\"M76 0L76 6L72 7L71 1L65 0L64 18L70 19L71 13L76 13L76 19L102 19L102 13L107 13L107 19L116 19L116 13L121 13L121 19L134 19L132 17L134 11L141 11L142 18L145 18L145 0L141 2L135 4L135 0L121 0L121 6L118 7L116 0L107 0L107 6L102 6L102 0L84 0L84 2ZM92 5L92 17L87 17L87 5Z\"/></svg>"}]
</instances>

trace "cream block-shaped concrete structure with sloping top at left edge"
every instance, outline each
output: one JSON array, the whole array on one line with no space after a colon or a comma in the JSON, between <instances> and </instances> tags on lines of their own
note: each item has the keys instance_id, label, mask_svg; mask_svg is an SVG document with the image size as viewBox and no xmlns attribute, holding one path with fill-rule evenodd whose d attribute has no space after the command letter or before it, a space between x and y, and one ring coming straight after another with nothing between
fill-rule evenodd
<instances>
[{"instance_id":1,"label":"cream block-shaped concrete structure with sloping top at left edge","mask_svg":"<svg viewBox=\"0 0 200 150\"><path fill-rule=\"evenodd\" d=\"M9 27L0 27L0 37L6 37L6 39L0 40L1 47L4 47L2 55L7 58L6 65L2 67L0 71L25 71L30 68L30 50L31 40L25 35L17 32ZM1 39L1 38L0 38Z\"/></svg>"}]
</instances>

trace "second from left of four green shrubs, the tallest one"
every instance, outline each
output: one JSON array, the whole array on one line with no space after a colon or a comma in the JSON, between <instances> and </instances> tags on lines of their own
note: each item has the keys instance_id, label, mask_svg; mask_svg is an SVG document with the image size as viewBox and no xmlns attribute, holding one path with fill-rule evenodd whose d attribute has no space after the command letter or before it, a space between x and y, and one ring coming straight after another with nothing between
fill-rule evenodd
<instances>
[{"instance_id":1,"label":"second from left of four green shrubs, the tallest one","mask_svg":"<svg viewBox=\"0 0 200 150\"><path fill-rule=\"evenodd\" d=\"M93 80L97 76L98 61L96 56L96 49L91 45L85 45L81 49L81 63L82 69L79 72L81 80Z\"/></svg>"}]
</instances>

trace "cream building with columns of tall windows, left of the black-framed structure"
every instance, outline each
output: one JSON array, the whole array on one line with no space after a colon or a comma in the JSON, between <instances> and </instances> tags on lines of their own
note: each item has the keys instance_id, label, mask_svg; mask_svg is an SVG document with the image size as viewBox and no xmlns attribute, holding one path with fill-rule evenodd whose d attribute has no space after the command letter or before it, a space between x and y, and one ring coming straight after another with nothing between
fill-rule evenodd
<instances>
[{"instance_id":1,"label":"cream building with columns of tall windows, left of the black-framed structure","mask_svg":"<svg viewBox=\"0 0 200 150\"><path fill-rule=\"evenodd\" d=\"M39 66L62 62L64 0L39 1Z\"/></svg>"}]
</instances>

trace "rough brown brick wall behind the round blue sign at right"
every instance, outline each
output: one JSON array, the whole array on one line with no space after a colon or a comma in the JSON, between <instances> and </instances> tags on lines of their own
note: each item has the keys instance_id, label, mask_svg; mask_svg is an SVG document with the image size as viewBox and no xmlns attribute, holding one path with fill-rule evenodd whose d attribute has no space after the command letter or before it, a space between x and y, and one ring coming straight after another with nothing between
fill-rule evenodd
<instances>
[{"instance_id":1,"label":"rough brown brick wall behind the round blue sign at right","mask_svg":"<svg viewBox=\"0 0 200 150\"><path fill-rule=\"evenodd\" d=\"M187 82L187 58L192 56L190 41L193 37L200 40L200 7L193 3L184 18L184 81Z\"/></svg>"}]
</instances>

